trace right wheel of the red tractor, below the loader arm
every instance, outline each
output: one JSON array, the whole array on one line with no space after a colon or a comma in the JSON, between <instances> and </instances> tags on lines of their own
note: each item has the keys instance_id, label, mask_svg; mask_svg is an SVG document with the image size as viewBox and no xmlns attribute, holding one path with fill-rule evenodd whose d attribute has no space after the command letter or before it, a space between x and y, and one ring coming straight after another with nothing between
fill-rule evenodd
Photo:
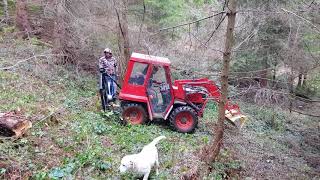
<instances>
[{"instance_id":1,"label":"right wheel of the red tractor, below the loader arm","mask_svg":"<svg viewBox=\"0 0 320 180\"><path fill-rule=\"evenodd\" d=\"M169 117L171 127L181 133L191 133L198 125L196 111L190 106L180 106Z\"/></svg>"}]
</instances>

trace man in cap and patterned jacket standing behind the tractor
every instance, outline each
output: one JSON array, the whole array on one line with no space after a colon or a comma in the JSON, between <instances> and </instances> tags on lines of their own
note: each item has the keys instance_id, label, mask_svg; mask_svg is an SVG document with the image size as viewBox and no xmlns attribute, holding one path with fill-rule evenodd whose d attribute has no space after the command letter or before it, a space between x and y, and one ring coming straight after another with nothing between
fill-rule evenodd
<instances>
[{"instance_id":1,"label":"man in cap and patterned jacket standing behind the tractor","mask_svg":"<svg viewBox=\"0 0 320 180\"><path fill-rule=\"evenodd\" d=\"M117 80L117 73L118 73L117 61L112 56L111 49L106 48L103 52L104 52L104 57L101 57L99 59L100 72L107 74L106 77L103 79L108 79L111 77L114 81L116 81ZM116 82L113 82L113 87L110 87L110 89L111 89L112 94L115 94L115 92L117 90Z\"/></svg>"}]
</instances>

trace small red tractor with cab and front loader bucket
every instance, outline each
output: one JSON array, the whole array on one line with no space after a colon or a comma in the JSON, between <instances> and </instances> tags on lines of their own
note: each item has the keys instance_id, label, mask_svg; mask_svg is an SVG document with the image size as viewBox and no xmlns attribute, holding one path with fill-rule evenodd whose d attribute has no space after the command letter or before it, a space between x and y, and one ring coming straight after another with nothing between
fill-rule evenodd
<instances>
[{"instance_id":1,"label":"small red tractor with cab and front loader bucket","mask_svg":"<svg viewBox=\"0 0 320 180\"><path fill-rule=\"evenodd\" d=\"M175 80L168 58L133 53L119 93L123 120L143 124L148 119L169 120L178 132L194 131L209 100L219 101L220 91L208 78ZM239 106L226 105L226 118L243 125Z\"/></svg>"}]
</instances>

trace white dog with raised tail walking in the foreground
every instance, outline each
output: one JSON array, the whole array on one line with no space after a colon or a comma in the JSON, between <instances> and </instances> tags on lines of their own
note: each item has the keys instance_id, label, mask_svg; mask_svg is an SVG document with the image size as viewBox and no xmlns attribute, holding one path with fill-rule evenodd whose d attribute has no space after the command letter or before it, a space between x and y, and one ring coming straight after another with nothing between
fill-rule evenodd
<instances>
[{"instance_id":1,"label":"white dog with raised tail walking in the foreground","mask_svg":"<svg viewBox=\"0 0 320 180\"><path fill-rule=\"evenodd\" d=\"M127 171L143 175L143 180L147 180L151 168L156 165L156 173L159 174L159 159L156 144L165 136L155 138L150 144L143 147L138 154L124 156L121 160L120 173Z\"/></svg>"}]
</instances>

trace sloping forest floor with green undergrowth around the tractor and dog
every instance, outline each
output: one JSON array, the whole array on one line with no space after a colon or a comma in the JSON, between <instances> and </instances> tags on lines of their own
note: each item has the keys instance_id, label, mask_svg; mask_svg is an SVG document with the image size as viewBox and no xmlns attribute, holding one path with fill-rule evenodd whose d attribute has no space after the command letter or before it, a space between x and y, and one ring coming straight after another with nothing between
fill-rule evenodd
<instances>
[{"instance_id":1,"label":"sloping forest floor with green undergrowth around the tractor and dog","mask_svg":"<svg viewBox=\"0 0 320 180\"><path fill-rule=\"evenodd\" d=\"M0 177L132 178L119 176L121 157L165 135L168 139L158 146L157 178L179 179L191 168L187 162L214 136L215 104L209 105L193 134L176 133L159 122L123 126L116 114L99 110L94 76L59 77L44 82L0 73L0 110L19 108L33 122L24 137L1 139L0 166L5 166L0 167ZM246 103L241 108L250 121L241 131L226 125L224 148L208 179L319 179L318 119Z\"/></svg>"}]
</instances>

